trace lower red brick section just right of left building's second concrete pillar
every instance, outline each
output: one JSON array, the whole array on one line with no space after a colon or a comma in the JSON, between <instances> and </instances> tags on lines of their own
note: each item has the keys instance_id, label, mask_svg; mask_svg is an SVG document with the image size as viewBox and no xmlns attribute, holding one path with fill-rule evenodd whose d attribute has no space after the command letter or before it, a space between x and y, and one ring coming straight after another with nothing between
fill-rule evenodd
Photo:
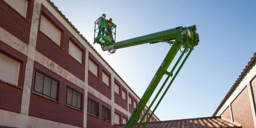
<instances>
[{"instance_id":1,"label":"lower red brick section just right of left building's second concrete pillar","mask_svg":"<svg viewBox=\"0 0 256 128\"><path fill-rule=\"evenodd\" d=\"M95 96L93 96L92 94L88 93L88 98L97 102L99 104L99 116L93 116L91 114L87 113L87 128L104 128L107 126L111 126L111 122L110 121L106 121L104 119L102 119L102 106L105 106L107 108L110 109L111 112L111 106L108 105L107 103L101 101L100 99L96 98ZM87 112L87 110L86 110ZM110 120L111 120L110 116Z\"/></svg>"}]
</instances>

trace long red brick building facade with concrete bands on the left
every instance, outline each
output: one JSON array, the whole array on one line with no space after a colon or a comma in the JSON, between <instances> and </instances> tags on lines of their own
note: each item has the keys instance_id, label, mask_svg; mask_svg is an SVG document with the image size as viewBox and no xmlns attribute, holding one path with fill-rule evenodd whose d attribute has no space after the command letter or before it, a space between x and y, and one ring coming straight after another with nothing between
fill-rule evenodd
<instances>
[{"instance_id":1,"label":"long red brick building facade with concrete bands on the left","mask_svg":"<svg viewBox=\"0 0 256 128\"><path fill-rule=\"evenodd\" d=\"M0 0L0 126L126 123L140 98L124 80L51 1L16 2Z\"/></svg>"}]
</instances>

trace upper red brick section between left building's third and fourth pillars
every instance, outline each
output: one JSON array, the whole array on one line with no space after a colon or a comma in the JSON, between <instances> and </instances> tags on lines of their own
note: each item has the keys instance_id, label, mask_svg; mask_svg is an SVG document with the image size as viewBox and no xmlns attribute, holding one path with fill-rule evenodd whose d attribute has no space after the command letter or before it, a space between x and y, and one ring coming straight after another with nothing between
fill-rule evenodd
<instances>
[{"instance_id":1,"label":"upper red brick section between left building's third and fourth pillars","mask_svg":"<svg viewBox=\"0 0 256 128\"><path fill-rule=\"evenodd\" d=\"M122 84L120 82L118 82L116 79L115 79L115 83L117 85L119 85L119 94L115 93L115 103L119 106L121 106L122 108L124 108L125 110L128 110L128 107L127 107L127 104L128 102L125 101L123 98L122 98L122 90L124 90L127 94L127 90L122 86ZM126 95L127 97L127 95ZM126 98L127 99L127 98Z\"/></svg>"}]
</instances>

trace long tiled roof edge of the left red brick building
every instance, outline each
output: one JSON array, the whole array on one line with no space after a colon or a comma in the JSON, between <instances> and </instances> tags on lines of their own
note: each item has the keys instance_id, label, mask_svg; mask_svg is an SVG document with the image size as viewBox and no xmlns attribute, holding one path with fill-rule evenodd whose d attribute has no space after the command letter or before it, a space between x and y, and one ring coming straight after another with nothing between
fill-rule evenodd
<instances>
[{"instance_id":1,"label":"long tiled roof edge of the left red brick building","mask_svg":"<svg viewBox=\"0 0 256 128\"><path fill-rule=\"evenodd\" d=\"M77 34L93 49L93 51L116 73L116 75L126 84L126 86L137 96L137 98L140 99L140 97L131 89L131 87L123 80L123 78L106 62L106 60L96 51L96 49L94 49L94 47L85 39L85 37L80 34L80 31L77 30L77 28L75 28L75 26L68 21L68 19L65 17L64 14L62 14L62 12L58 9L58 7L56 7L54 5L54 3L51 0L47 0L52 6L53 8L69 23L69 25L77 32ZM147 107L147 106L146 106ZM155 115L155 114L154 114ZM155 115L156 116L156 115ZM156 118L158 120L160 120L157 116Z\"/></svg>"}]
</instances>

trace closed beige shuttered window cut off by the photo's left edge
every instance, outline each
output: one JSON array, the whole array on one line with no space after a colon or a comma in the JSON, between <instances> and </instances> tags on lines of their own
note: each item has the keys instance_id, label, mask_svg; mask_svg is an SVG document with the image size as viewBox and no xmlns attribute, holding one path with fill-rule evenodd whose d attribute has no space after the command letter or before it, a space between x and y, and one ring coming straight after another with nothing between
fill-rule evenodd
<instances>
[{"instance_id":1,"label":"closed beige shuttered window cut off by the photo's left edge","mask_svg":"<svg viewBox=\"0 0 256 128\"><path fill-rule=\"evenodd\" d=\"M0 53L0 79L18 85L20 62Z\"/></svg>"}]
</instances>

